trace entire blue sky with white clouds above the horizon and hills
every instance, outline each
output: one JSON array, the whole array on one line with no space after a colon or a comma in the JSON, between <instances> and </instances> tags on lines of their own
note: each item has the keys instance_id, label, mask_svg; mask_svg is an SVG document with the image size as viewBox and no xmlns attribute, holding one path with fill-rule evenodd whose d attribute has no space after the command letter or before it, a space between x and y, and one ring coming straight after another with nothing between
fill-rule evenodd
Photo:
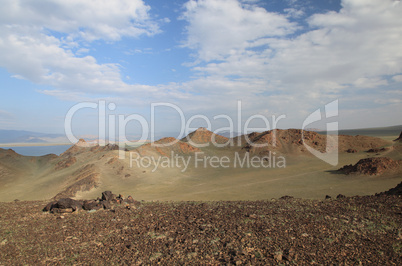
<instances>
[{"instance_id":1,"label":"entire blue sky with white clouds above the horizon and hills","mask_svg":"<svg viewBox=\"0 0 402 266\"><path fill-rule=\"evenodd\" d=\"M341 129L400 125L400 14L394 0L4 0L0 129L63 133L71 107L99 100L148 121L170 103L213 128L238 101L243 123L301 128L338 100ZM96 134L97 114L79 110L74 132ZM176 110L156 115L177 131Z\"/></svg>"}]
</instances>

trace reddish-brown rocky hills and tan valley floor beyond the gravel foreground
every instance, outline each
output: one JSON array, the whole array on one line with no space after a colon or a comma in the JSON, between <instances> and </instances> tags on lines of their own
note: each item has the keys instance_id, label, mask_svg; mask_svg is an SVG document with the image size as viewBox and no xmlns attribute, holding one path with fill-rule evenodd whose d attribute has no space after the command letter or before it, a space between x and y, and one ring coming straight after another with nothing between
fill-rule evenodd
<instances>
[{"instance_id":1,"label":"reddish-brown rocky hills and tan valley floor beyond the gravel foreground","mask_svg":"<svg viewBox=\"0 0 402 266\"><path fill-rule=\"evenodd\" d=\"M339 136L339 165L332 167L311 155L301 137L300 130L289 129L227 139L200 128L182 140L163 138L130 151L84 140L60 156L30 157L0 150L0 201L86 198L104 190L144 200L260 200L283 193L322 198L335 193L373 194L400 182L400 167L368 182L337 172L364 158L401 160L398 142ZM213 139L223 147L212 145ZM326 151L326 136L304 132L304 142ZM197 143L209 145L196 147ZM267 157L270 151L274 153Z\"/></svg>"}]
</instances>

